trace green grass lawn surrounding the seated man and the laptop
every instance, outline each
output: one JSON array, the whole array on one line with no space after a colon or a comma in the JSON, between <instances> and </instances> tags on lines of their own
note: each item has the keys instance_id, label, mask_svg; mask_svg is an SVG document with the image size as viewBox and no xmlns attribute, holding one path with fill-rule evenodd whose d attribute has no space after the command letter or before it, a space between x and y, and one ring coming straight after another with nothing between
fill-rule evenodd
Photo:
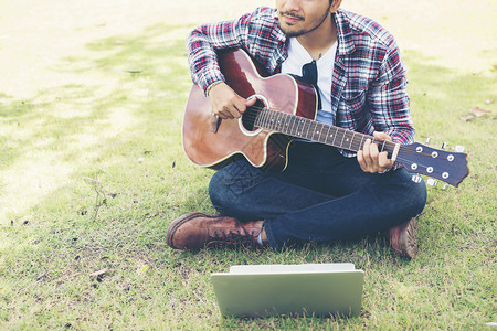
<instances>
[{"instance_id":1,"label":"green grass lawn surrounding the seated man and the laptop","mask_svg":"<svg viewBox=\"0 0 497 331\"><path fill-rule=\"evenodd\" d=\"M497 322L495 51L482 53L486 70L477 74L404 52L417 140L464 145L470 166L459 189L430 191L412 261L380 236L282 253L182 253L165 244L169 223L212 212L212 172L181 148L188 29L159 24L97 40L53 67L91 73L92 84L24 100L0 94L0 329L461 330ZM459 120L476 106L493 113ZM209 280L237 264L341 261L366 271L355 319L223 319Z\"/></svg>"}]
</instances>

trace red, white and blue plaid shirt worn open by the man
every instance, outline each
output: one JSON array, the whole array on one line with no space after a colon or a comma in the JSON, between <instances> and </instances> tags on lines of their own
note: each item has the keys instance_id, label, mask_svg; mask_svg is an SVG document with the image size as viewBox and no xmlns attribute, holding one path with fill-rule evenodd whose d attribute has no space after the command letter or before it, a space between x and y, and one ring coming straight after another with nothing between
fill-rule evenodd
<instances>
[{"instance_id":1,"label":"red, white and blue plaid shirt worn open by the man","mask_svg":"<svg viewBox=\"0 0 497 331\"><path fill-rule=\"evenodd\" d=\"M334 18L338 49L330 90L332 125L367 135L383 131L393 142L412 142L408 79L393 36L372 20L341 9ZM288 57L287 45L276 10L266 7L239 20L199 26L187 46L192 79L204 90L224 79L215 50L226 47L241 47L271 74L279 73Z\"/></svg>"}]
</instances>

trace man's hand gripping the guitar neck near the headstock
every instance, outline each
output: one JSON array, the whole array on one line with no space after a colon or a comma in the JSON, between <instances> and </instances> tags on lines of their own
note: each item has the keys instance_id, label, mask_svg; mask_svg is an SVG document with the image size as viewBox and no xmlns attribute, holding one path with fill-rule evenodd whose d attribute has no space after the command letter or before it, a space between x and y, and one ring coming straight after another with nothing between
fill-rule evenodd
<instances>
[{"instance_id":1,"label":"man's hand gripping the guitar neck near the headstock","mask_svg":"<svg viewBox=\"0 0 497 331\"><path fill-rule=\"evenodd\" d=\"M392 138L383 132L373 134L379 141L392 141ZM357 152L357 161L364 172L382 172L393 167L393 161L388 158L388 152L378 150L377 143L371 143L371 139L366 140L362 150Z\"/></svg>"}]
</instances>

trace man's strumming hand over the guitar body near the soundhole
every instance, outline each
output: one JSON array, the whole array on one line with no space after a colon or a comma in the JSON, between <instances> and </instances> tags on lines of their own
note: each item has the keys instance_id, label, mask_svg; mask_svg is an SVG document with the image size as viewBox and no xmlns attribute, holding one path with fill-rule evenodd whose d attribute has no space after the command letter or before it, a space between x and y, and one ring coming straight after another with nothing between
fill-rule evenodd
<instances>
[{"instance_id":1,"label":"man's strumming hand over the guitar body near the soundhole","mask_svg":"<svg viewBox=\"0 0 497 331\"><path fill-rule=\"evenodd\" d=\"M219 83L209 90L212 114L222 119L240 118L246 107L253 106L256 98L245 99L237 95L226 83Z\"/></svg>"}]
</instances>

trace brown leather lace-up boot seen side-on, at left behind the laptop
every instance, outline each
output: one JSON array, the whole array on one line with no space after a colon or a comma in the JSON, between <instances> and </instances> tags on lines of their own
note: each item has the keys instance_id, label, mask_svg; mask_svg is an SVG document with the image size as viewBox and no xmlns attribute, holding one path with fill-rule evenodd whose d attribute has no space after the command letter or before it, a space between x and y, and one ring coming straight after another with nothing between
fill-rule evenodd
<instances>
[{"instance_id":1,"label":"brown leather lace-up boot seen side-on, at left behind the laptop","mask_svg":"<svg viewBox=\"0 0 497 331\"><path fill-rule=\"evenodd\" d=\"M167 232L171 248L197 250L209 246L256 247L263 221L240 223L236 218L189 213L175 220Z\"/></svg>"}]
</instances>

